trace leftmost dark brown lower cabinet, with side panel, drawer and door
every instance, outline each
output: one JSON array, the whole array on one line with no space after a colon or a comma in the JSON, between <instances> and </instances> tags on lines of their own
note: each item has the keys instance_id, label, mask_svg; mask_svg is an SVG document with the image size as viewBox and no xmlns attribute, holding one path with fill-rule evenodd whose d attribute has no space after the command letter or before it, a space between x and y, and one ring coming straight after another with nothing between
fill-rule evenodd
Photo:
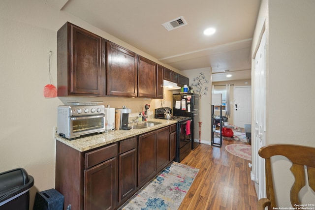
<instances>
[{"instance_id":1,"label":"leftmost dark brown lower cabinet, with side panel, drawer and door","mask_svg":"<svg viewBox=\"0 0 315 210\"><path fill-rule=\"evenodd\" d=\"M55 188L64 210L111 210L117 203L117 143L80 152L56 142Z\"/></svg>"}]
</instances>

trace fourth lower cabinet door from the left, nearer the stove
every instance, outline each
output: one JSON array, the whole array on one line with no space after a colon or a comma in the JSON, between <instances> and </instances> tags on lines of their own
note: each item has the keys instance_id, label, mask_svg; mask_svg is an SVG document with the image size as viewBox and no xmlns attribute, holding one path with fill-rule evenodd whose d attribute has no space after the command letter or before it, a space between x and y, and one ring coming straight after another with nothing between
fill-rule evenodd
<instances>
[{"instance_id":1,"label":"fourth lower cabinet door from the left, nearer the stove","mask_svg":"<svg viewBox=\"0 0 315 210\"><path fill-rule=\"evenodd\" d=\"M169 126L157 130L157 171L169 163Z\"/></svg>"}]
</instances>

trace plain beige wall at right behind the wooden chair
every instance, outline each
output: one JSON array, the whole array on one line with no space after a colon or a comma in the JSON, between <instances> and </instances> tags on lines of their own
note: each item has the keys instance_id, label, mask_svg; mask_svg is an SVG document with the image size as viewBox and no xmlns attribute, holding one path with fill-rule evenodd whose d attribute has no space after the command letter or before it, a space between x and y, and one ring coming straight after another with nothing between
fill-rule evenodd
<instances>
[{"instance_id":1,"label":"plain beige wall at right behind the wooden chair","mask_svg":"<svg viewBox=\"0 0 315 210\"><path fill-rule=\"evenodd\" d=\"M259 44L258 37L265 21L267 145L284 143L315 147L314 10L314 0L262 0L252 52ZM301 111L305 115L301 115ZM282 157L273 160L277 201L281 207L290 206L288 196L293 183L288 172L290 165ZM314 191L309 189L302 195L303 203L314 204Z\"/></svg>"}]
</instances>

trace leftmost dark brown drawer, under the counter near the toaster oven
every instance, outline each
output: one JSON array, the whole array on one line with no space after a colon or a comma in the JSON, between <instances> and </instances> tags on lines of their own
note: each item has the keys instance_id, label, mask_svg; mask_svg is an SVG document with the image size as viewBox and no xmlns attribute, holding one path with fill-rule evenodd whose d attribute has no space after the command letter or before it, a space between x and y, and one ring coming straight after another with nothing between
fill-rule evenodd
<instances>
[{"instance_id":1,"label":"leftmost dark brown drawer, under the counter near the toaster oven","mask_svg":"<svg viewBox=\"0 0 315 210\"><path fill-rule=\"evenodd\" d=\"M117 144L85 153L85 168L90 168L117 155Z\"/></svg>"}]
</instances>

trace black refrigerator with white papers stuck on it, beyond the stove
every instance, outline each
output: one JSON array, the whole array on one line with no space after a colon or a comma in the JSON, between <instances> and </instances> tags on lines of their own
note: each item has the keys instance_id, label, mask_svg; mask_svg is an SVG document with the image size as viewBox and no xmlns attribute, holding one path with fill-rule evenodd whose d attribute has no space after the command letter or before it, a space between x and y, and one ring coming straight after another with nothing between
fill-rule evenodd
<instances>
[{"instance_id":1,"label":"black refrigerator with white papers stuck on it, beyond the stove","mask_svg":"<svg viewBox=\"0 0 315 210\"><path fill-rule=\"evenodd\" d=\"M193 93L173 94L173 116L192 118L191 149L195 149L199 143L199 95Z\"/></svg>"}]
</instances>

